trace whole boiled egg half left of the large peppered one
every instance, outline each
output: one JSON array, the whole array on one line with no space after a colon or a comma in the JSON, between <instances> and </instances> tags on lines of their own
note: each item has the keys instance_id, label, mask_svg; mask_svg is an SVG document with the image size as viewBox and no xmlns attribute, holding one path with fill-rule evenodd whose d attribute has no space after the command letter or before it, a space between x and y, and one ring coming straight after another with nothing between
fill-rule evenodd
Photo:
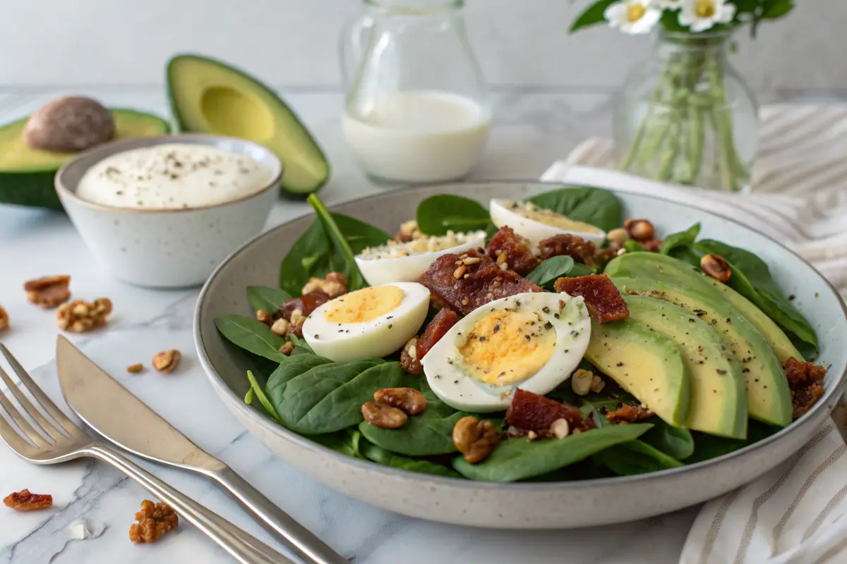
<instances>
[{"instance_id":1,"label":"whole boiled egg half left of the large peppered one","mask_svg":"<svg viewBox=\"0 0 847 564\"><path fill-rule=\"evenodd\" d=\"M384 357L423 325L429 289L418 282L366 287L331 299L303 323L314 352L335 362Z\"/></svg>"}]
</instances>

